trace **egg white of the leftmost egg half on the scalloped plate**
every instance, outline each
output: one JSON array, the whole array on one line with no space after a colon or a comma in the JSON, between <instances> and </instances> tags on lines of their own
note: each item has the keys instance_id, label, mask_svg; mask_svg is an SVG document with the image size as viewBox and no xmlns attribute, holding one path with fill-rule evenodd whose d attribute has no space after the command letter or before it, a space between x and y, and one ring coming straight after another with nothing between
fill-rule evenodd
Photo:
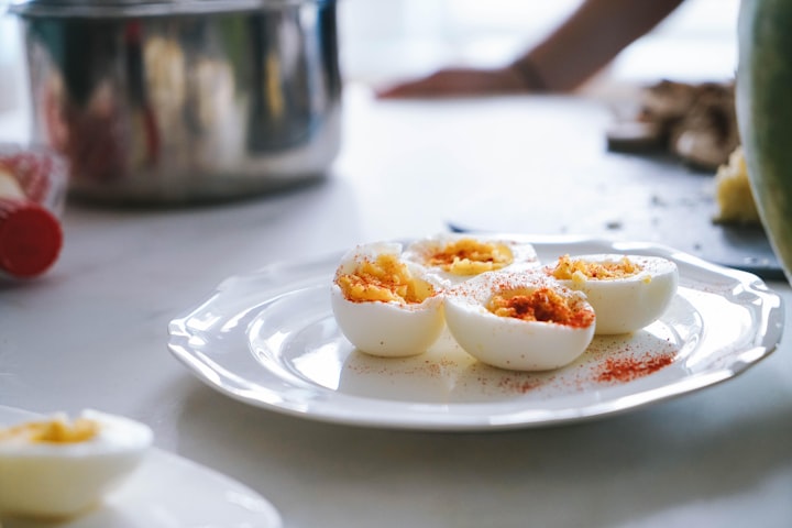
<instances>
[{"instance_id":1,"label":"egg white of the leftmost egg half on the scalloped plate","mask_svg":"<svg viewBox=\"0 0 792 528\"><path fill-rule=\"evenodd\" d=\"M375 242L348 252L339 264L339 274L354 272L366 258L380 254L400 257L402 244ZM421 279L424 270L406 262L414 277ZM361 352L384 358L403 358L425 352L440 337L444 327L442 294L430 296L420 304L397 301L349 300L336 282L330 300L336 322L343 336Z\"/></svg>"}]
</instances>

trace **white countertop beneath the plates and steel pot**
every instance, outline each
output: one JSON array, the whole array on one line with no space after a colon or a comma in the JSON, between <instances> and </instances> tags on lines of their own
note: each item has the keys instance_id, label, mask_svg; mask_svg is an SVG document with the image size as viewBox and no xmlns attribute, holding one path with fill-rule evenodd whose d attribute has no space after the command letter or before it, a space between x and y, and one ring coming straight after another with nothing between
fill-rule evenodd
<instances>
[{"instance_id":1,"label":"white countertop beneath the plates and steel pot","mask_svg":"<svg viewBox=\"0 0 792 528\"><path fill-rule=\"evenodd\" d=\"M594 122L601 112L564 105ZM682 398L480 433L283 416L212 391L168 353L168 321L230 275L442 231L484 178L504 191L509 178L537 178L530 148L542 134L529 123L558 108L530 98L385 103L350 87L342 154L319 185L176 210L69 205L56 266L0 288L0 405L144 421L160 448L261 493L287 528L792 526L787 340L746 373ZM0 119L4 138L12 121ZM601 138L579 140L592 166L584 177L596 177L585 145L594 152ZM770 286L792 302L787 284Z\"/></svg>"}]
</instances>

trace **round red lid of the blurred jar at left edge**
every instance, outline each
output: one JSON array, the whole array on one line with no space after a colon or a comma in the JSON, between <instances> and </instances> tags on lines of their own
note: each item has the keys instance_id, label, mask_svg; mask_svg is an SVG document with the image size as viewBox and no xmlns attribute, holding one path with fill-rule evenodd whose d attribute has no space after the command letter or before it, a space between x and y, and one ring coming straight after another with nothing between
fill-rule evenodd
<instances>
[{"instance_id":1,"label":"round red lid of the blurred jar at left edge","mask_svg":"<svg viewBox=\"0 0 792 528\"><path fill-rule=\"evenodd\" d=\"M26 278L41 275L61 254L63 230L41 205L0 198L0 270Z\"/></svg>"}]
</instances>

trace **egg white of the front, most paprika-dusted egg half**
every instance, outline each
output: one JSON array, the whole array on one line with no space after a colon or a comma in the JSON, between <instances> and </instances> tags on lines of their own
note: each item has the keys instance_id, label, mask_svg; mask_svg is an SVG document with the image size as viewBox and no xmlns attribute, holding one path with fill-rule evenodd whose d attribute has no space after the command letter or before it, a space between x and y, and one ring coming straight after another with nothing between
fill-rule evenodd
<instances>
[{"instance_id":1,"label":"egg white of the front, most paprika-dusted egg half","mask_svg":"<svg viewBox=\"0 0 792 528\"><path fill-rule=\"evenodd\" d=\"M548 371L578 359L591 343L595 322L572 327L556 322L501 317L487 310L494 293L549 286L580 309L585 297L554 280L531 273L487 272L447 292L446 323L457 342L482 363L515 371Z\"/></svg>"}]
</instances>

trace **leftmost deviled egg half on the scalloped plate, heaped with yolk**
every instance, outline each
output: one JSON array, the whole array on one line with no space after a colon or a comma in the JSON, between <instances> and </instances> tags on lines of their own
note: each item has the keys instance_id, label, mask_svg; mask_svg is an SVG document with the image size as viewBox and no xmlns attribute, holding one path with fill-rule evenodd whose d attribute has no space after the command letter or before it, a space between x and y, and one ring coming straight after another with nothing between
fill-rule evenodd
<instances>
[{"instance_id":1,"label":"leftmost deviled egg half on the scalloped plate, heaped with yolk","mask_svg":"<svg viewBox=\"0 0 792 528\"><path fill-rule=\"evenodd\" d=\"M425 352L442 332L441 288L422 266L402 258L402 244L374 242L344 254L331 285L339 329L360 351L378 356Z\"/></svg>"}]
</instances>

